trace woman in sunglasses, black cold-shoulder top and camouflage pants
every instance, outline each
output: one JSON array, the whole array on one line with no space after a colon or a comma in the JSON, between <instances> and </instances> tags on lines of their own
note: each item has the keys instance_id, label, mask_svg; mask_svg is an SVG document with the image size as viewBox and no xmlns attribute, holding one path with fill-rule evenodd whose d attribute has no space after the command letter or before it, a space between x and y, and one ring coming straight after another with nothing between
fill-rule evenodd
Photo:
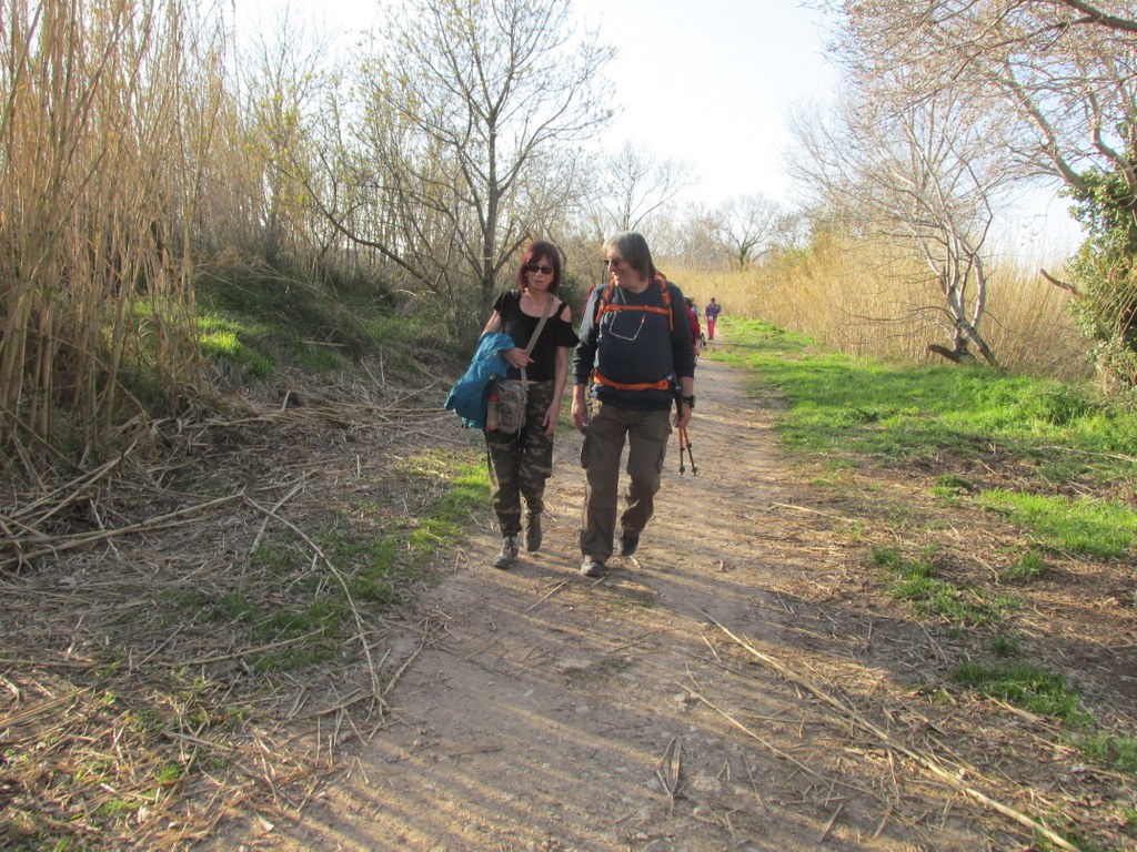
<instances>
[{"instance_id":1,"label":"woman in sunglasses, black cold-shoulder top and camouflage pants","mask_svg":"<svg viewBox=\"0 0 1137 852\"><path fill-rule=\"evenodd\" d=\"M517 558L522 498L526 508L525 550L533 552L541 546L545 483L553 473L553 434L568 382L570 351L578 340L572 329L572 308L556 296L559 286L561 250L550 242L531 243L517 268L517 289L498 296L482 331L513 337L515 348L504 352L509 365L505 378L524 378L529 392L520 431L485 431L491 500L501 529L501 552L493 560L495 568L508 568Z\"/></svg>"}]
</instances>

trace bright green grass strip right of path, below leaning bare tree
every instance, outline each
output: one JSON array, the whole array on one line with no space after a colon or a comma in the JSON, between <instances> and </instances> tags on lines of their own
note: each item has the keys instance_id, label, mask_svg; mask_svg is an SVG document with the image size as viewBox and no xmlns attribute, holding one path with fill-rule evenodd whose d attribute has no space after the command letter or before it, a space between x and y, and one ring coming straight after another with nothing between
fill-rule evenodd
<instances>
[{"instance_id":1,"label":"bright green grass strip right of path, below leaning bare tree","mask_svg":"<svg viewBox=\"0 0 1137 852\"><path fill-rule=\"evenodd\" d=\"M787 450L828 470L858 460L896 467L945 459L1010 459L1032 469L1030 493L977 492L940 475L931 492L949 507L976 501L1029 531L1039 546L1126 560L1137 554L1137 511L1120 500L1059 495L1071 483L1127 493L1137 487L1137 410L1088 385L1009 376L981 367L893 365L814 351L810 341L758 320L731 319L731 346L708 353L750 371L761 396L778 387ZM1047 491L1054 492L1046 495ZM1029 573L1030 566L1022 567ZM919 595L936 596L924 587Z\"/></svg>"}]
</instances>

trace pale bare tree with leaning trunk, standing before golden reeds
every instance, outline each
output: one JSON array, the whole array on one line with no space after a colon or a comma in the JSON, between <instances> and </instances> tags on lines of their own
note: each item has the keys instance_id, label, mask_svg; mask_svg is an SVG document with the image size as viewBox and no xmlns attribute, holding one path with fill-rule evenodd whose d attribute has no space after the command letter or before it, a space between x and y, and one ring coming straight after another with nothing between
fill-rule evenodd
<instances>
[{"instance_id":1,"label":"pale bare tree with leaning trunk, standing before golden reeds","mask_svg":"<svg viewBox=\"0 0 1137 852\"><path fill-rule=\"evenodd\" d=\"M981 334L988 275L984 244L1001 192L1015 177L988 144L994 125L951 95L896 106L881 92L844 99L836 126L799 123L798 176L845 225L904 241L940 294L951 360L997 359Z\"/></svg>"}]
</instances>

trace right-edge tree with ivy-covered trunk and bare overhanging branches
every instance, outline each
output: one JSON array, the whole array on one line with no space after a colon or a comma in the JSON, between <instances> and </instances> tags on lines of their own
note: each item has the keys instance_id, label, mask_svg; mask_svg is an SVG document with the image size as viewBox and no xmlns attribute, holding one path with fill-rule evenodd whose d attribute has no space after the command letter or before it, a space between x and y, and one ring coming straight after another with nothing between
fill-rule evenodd
<instances>
[{"instance_id":1,"label":"right-edge tree with ivy-covered trunk and bare overhanging branches","mask_svg":"<svg viewBox=\"0 0 1137 852\"><path fill-rule=\"evenodd\" d=\"M1073 293L1105 376L1137 383L1137 3L829 5L846 15L838 47L861 83L903 69L894 101L954 92L1014 119L989 144L1064 183L1087 226L1073 283L1047 277Z\"/></svg>"}]
</instances>

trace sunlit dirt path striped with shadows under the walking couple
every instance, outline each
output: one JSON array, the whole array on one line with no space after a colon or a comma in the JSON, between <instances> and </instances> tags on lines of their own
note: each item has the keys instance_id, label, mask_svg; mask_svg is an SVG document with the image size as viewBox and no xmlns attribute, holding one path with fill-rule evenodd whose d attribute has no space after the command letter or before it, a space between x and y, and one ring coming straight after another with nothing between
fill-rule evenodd
<instances>
[{"instance_id":1,"label":"sunlit dirt path striped with shadows under the walking couple","mask_svg":"<svg viewBox=\"0 0 1137 852\"><path fill-rule=\"evenodd\" d=\"M920 637L897 634L874 658L881 640L855 602L800 594L824 599L850 568L850 545L799 535L810 510L785 484L773 410L746 396L738 374L704 359L698 400L698 475L689 465L680 475L673 442L638 563L613 560L601 582L578 573L581 438L562 437L542 552L497 571L496 534L475 535L424 602L433 627L397 649L409 665L389 726L297 824L243 845L1013 847L982 808L840 710L845 687L904 690ZM922 721L881 718L905 733Z\"/></svg>"}]
</instances>

